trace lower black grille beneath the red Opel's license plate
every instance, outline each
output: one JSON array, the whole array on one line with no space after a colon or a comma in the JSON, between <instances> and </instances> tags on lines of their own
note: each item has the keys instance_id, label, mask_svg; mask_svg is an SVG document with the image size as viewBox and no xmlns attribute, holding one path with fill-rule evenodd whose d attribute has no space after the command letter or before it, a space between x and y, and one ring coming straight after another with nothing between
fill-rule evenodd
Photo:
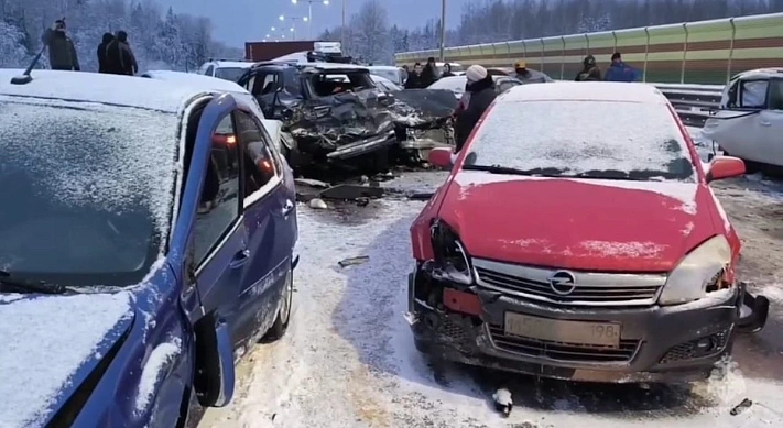
<instances>
[{"instance_id":1,"label":"lower black grille beneath the red Opel's license plate","mask_svg":"<svg viewBox=\"0 0 783 428\"><path fill-rule=\"evenodd\" d=\"M628 362L639 348L639 340L621 340L619 348L559 343L507 334L502 327L489 326L489 334L498 349L526 356L557 361L620 363Z\"/></svg>"}]
</instances>

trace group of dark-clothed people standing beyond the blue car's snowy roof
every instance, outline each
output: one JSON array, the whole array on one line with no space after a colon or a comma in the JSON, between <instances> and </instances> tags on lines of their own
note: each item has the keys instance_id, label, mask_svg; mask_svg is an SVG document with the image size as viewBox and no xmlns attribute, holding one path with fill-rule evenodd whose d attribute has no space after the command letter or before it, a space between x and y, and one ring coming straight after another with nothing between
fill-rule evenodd
<instances>
[{"instance_id":1,"label":"group of dark-clothed people standing beyond the blue car's snowy roof","mask_svg":"<svg viewBox=\"0 0 783 428\"><path fill-rule=\"evenodd\" d=\"M65 19L57 20L44 32L42 41L48 47L48 64L52 69L80 72L79 57L74 41L66 34ZM98 73L133 76L139 64L128 43L128 33L105 33L96 51Z\"/></svg>"}]
</instances>

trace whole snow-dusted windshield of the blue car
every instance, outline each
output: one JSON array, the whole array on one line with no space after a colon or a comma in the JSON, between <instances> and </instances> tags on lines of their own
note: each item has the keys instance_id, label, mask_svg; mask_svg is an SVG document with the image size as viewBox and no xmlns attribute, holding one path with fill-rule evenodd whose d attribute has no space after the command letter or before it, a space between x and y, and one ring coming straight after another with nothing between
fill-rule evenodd
<instances>
[{"instance_id":1,"label":"whole snow-dusted windshield of the blue car","mask_svg":"<svg viewBox=\"0 0 783 428\"><path fill-rule=\"evenodd\" d=\"M0 96L0 271L141 282L164 251L175 114Z\"/></svg>"}]
</instances>

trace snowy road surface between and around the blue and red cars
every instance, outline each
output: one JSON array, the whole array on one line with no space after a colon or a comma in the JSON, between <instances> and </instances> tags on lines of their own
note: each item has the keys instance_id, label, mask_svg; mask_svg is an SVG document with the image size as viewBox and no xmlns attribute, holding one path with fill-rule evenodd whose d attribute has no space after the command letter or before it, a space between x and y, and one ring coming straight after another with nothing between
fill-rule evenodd
<instances>
[{"instance_id":1,"label":"snowy road surface between and around the blue and red cars","mask_svg":"<svg viewBox=\"0 0 783 428\"><path fill-rule=\"evenodd\" d=\"M411 173L422 189L444 175ZM783 303L783 185L760 177L716 183L744 240L741 274ZM684 387L589 386L453 366L433 378L407 323L407 228L423 202L365 208L300 206L297 293L287 336L240 364L238 396L203 427L706 427L783 426L783 314L773 306L759 336L742 338L722 376ZM347 268L342 259L368 255ZM505 382L505 383L503 383ZM502 419L489 397L508 385L516 406ZM742 399L749 411L730 416ZM780 415L775 411L780 411ZM760 424L768 420L770 425Z\"/></svg>"}]
</instances>

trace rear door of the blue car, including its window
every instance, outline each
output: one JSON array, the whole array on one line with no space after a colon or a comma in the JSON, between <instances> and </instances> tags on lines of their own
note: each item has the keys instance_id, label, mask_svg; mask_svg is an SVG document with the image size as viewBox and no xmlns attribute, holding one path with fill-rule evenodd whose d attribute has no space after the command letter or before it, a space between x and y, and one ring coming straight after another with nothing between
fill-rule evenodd
<instances>
[{"instance_id":1,"label":"rear door of the blue car, including its window","mask_svg":"<svg viewBox=\"0 0 783 428\"><path fill-rule=\"evenodd\" d=\"M244 228L251 261L239 305L246 334L264 332L274 316L291 271L293 235L285 228L295 217L295 198L284 186L283 171L263 127L247 111L235 111L242 147ZM295 221L295 219L294 219Z\"/></svg>"}]
</instances>

